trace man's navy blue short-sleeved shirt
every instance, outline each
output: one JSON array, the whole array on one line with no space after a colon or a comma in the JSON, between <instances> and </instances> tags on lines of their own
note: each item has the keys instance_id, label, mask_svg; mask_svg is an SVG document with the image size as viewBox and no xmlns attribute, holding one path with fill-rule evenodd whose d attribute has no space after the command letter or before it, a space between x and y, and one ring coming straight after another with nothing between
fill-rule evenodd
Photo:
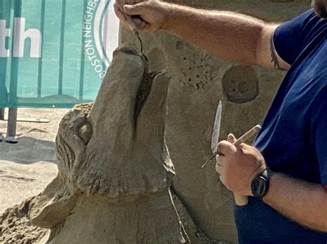
<instances>
[{"instance_id":1,"label":"man's navy blue short-sleeved shirt","mask_svg":"<svg viewBox=\"0 0 327 244\"><path fill-rule=\"evenodd\" d=\"M327 19L308 10L277 27L273 40L291 67L254 146L271 170L327 185ZM235 222L240 243L327 243L327 233L252 197L247 206L235 206Z\"/></svg>"}]
</instances>

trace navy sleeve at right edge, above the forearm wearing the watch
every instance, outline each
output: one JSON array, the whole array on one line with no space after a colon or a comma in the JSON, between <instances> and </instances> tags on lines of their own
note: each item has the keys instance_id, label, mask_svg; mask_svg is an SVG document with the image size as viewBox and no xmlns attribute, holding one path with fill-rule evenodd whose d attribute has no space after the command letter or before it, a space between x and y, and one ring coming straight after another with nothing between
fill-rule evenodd
<instances>
[{"instance_id":1,"label":"navy sleeve at right edge, above the forearm wearing the watch","mask_svg":"<svg viewBox=\"0 0 327 244\"><path fill-rule=\"evenodd\" d=\"M311 140L319 162L321 184L327 185L327 87L321 89L314 106Z\"/></svg>"}]
</instances>

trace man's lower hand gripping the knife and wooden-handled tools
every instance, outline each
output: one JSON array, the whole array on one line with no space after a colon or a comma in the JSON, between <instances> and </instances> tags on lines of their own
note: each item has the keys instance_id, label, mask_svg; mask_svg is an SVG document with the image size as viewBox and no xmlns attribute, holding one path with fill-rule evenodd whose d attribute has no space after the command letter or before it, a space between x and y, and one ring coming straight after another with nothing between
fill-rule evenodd
<instances>
[{"instance_id":1,"label":"man's lower hand gripping the knife and wooden-handled tools","mask_svg":"<svg viewBox=\"0 0 327 244\"><path fill-rule=\"evenodd\" d=\"M252 196L252 179L266 169L264 157L257 148L247 144L234 146L234 135L228 135L228 141L218 144L218 151L224 155L217 156L216 171L221 182L239 195Z\"/></svg>"}]
</instances>

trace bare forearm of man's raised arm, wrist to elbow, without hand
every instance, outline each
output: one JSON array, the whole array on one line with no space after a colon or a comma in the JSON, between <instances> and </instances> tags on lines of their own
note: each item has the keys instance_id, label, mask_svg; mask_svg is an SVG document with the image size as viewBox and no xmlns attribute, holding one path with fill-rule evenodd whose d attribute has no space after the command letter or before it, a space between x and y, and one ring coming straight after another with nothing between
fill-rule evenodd
<instances>
[{"instance_id":1,"label":"bare forearm of man's raised arm, wrist to elbow, without hand","mask_svg":"<svg viewBox=\"0 0 327 244\"><path fill-rule=\"evenodd\" d=\"M231 12L170 5L164 29L226 60L256 63L257 41L265 23Z\"/></svg>"}]
</instances>

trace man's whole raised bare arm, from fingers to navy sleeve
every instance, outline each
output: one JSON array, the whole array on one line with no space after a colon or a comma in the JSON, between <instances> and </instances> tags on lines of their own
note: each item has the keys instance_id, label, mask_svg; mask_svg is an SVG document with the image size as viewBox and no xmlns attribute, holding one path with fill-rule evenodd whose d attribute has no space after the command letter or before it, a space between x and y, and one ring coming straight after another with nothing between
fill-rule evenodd
<instances>
[{"instance_id":1,"label":"man's whole raised bare arm, from fingers to navy sleeve","mask_svg":"<svg viewBox=\"0 0 327 244\"><path fill-rule=\"evenodd\" d=\"M165 30L225 60L246 65L288 69L275 52L272 36L277 25L232 12L197 10L160 1L126 0L123 11L139 15L137 27ZM116 14L126 20L115 5Z\"/></svg>"}]
</instances>

